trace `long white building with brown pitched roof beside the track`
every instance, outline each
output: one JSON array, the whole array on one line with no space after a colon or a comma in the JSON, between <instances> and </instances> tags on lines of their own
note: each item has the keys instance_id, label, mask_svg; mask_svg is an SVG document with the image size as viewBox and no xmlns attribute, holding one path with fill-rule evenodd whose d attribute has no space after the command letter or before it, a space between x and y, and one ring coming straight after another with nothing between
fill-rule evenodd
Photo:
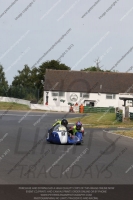
<instances>
[{"instance_id":1,"label":"long white building with brown pitched roof beside the track","mask_svg":"<svg viewBox=\"0 0 133 200\"><path fill-rule=\"evenodd\" d=\"M44 105L122 107L120 97L133 98L132 73L46 70Z\"/></svg>"}]
</instances>

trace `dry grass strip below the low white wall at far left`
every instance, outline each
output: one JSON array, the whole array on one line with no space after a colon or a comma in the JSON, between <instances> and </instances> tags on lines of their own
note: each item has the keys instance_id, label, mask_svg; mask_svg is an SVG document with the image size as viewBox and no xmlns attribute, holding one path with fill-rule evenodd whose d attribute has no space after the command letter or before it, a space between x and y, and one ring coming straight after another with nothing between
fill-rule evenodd
<instances>
[{"instance_id":1,"label":"dry grass strip below the low white wall at far left","mask_svg":"<svg viewBox=\"0 0 133 200\"><path fill-rule=\"evenodd\" d=\"M0 110L30 110L30 108L23 104L0 102Z\"/></svg>"}]
</instances>

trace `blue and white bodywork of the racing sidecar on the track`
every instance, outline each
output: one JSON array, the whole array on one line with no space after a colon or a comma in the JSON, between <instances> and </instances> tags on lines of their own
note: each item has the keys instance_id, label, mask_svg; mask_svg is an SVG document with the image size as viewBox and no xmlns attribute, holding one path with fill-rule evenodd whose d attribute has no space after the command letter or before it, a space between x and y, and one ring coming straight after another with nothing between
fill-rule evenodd
<instances>
[{"instance_id":1,"label":"blue and white bodywork of the racing sidecar on the track","mask_svg":"<svg viewBox=\"0 0 133 200\"><path fill-rule=\"evenodd\" d=\"M68 136L68 132L65 126L58 124L54 127L51 134L48 133L47 141L56 144L81 144L82 133L77 132L72 138Z\"/></svg>"}]
</instances>

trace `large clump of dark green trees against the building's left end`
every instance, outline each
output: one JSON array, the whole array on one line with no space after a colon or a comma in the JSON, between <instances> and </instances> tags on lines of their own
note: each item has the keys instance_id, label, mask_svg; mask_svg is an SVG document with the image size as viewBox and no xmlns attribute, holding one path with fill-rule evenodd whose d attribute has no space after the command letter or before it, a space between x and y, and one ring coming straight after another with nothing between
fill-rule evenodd
<instances>
[{"instance_id":1,"label":"large clump of dark green trees against the building's left end","mask_svg":"<svg viewBox=\"0 0 133 200\"><path fill-rule=\"evenodd\" d=\"M28 89L28 95L27 93L25 94L27 99L30 98L31 100L32 98L34 98L34 96L36 99L37 96L43 97L43 85L45 81L44 76L46 73L46 69L70 70L68 66L66 66L65 64L61 64L59 61L56 60L46 61L45 63L42 63L38 68L35 67L33 69L30 69L28 65L25 65L23 70L18 70L19 75L15 76L12 82L12 86L17 88L12 88L12 91L14 91L13 95L15 95L14 97L20 97L21 94L24 98L24 91ZM20 88L21 91L19 92ZM33 90L36 92L34 93Z\"/></svg>"}]
</instances>

